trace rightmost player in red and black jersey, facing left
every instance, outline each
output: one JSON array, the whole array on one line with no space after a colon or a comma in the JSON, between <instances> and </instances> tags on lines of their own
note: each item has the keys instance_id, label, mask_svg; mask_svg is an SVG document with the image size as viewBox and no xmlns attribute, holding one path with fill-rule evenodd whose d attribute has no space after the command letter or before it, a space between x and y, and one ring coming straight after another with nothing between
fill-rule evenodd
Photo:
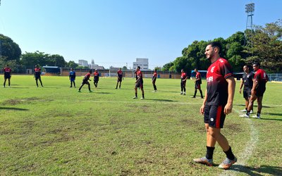
<instances>
[{"instance_id":1,"label":"rightmost player in red and black jersey, facing left","mask_svg":"<svg viewBox=\"0 0 282 176\"><path fill-rule=\"evenodd\" d=\"M254 63L252 68L255 70L255 81L252 85L251 97L249 101L249 106L247 106L247 113L245 114L246 118L250 118L250 111L254 101L257 99L257 115L254 118L260 118L260 113L262 112L262 98L266 90L266 82L269 80L269 77L266 75L265 71L260 68L260 63Z\"/></svg>"}]
</instances>

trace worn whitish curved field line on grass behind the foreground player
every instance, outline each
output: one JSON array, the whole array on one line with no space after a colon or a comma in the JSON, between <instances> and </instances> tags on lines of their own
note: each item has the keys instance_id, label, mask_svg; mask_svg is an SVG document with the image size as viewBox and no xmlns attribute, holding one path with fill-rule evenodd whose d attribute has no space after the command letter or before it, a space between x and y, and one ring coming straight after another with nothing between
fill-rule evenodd
<instances>
[{"instance_id":1,"label":"worn whitish curved field line on grass behind the foreground player","mask_svg":"<svg viewBox=\"0 0 282 176\"><path fill-rule=\"evenodd\" d=\"M238 113L238 115L240 114L240 111L238 111L237 109L233 108L233 111L235 113ZM247 173L248 171L250 171L245 168L245 165L250 156L252 156L252 152L255 151L257 142L259 142L259 132L255 128L255 125L252 122L251 118L245 118L245 121L247 121L247 123L250 125L250 141L247 142L243 153L240 153L237 156L238 161L231 167L231 170L224 170L221 175L237 175L242 172Z\"/></svg>"}]
</instances>

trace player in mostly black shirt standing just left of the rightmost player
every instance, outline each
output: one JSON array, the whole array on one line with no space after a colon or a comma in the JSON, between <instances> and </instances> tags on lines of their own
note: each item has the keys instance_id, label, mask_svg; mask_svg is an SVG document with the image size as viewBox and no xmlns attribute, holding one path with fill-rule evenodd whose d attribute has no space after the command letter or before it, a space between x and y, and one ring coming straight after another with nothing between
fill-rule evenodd
<instances>
[{"instance_id":1,"label":"player in mostly black shirt standing just left of the rightmost player","mask_svg":"<svg viewBox=\"0 0 282 176\"><path fill-rule=\"evenodd\" d=\"M244 86L243 97L245 99L245 109L241 112L247 112L247 106L249 105L249 100L251 97L252 84L254 82L254 73L250 72L248 65L244 65L243 70L245 74L242 76L239 93L242 93L242 88Z\"/></svg>"}]
</instances>

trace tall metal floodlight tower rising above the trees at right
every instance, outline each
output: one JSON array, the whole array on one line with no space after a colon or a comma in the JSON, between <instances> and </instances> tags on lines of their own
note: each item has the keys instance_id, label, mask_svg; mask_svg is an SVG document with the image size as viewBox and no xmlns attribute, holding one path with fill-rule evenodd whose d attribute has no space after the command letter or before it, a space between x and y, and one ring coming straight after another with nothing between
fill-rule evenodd
<instances>
[{"instance_id":1,"label":"tall metal floodlight tower rising above the trees at right","mask_svg":"<svg viewBox=\"0 0 282 176\"><path fill-rule=\"evenodd\" d=\"M249 34L252 34L253 26L252 26L252 16L254 15L255 11L255 3L246 4L245 12L247 13L247 23L246 23L246 30L245 30L245 45L248 44L247 38Z\"/></svg>"}]
</instances>

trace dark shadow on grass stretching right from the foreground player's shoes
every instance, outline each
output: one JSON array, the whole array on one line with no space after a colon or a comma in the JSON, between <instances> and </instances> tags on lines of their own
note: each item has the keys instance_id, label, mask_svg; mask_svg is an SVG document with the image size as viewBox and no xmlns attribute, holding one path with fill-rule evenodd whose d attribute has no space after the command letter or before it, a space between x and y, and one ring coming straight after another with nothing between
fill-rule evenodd
<instances>
[{"instance_id":1,"label":"dark shadow on grass stretching right from the foreground player's shoes","mask_svg":"<svg viewBox=\"0 0 282 176\"><path fill-rule=\"evenodd\" d=\"M233 165L231 170L247 175L280 175L282 168L277 166L262 165L259 168L251 168L243 165Z\"/></svg>"}]
</instances>

